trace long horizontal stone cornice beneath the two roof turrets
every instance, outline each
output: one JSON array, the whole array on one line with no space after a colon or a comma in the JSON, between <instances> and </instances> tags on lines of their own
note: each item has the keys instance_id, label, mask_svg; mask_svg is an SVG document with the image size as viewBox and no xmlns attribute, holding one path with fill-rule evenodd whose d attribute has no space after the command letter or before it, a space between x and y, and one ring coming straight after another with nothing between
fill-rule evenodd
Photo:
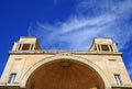
<instances>
[{"instance_id":1,"label":"long horizontal stone cornice beneath the two roof turrets","mask_svg":"<svg viewBox=\"0 0 132 89\"><path fill-rule=\"evenodd\" d=\"M55 54L74 54L74 55L122 55L121 52L90 52L90 51L10 51L10 55L55 55Z\"/></svg>"}]
</instances>

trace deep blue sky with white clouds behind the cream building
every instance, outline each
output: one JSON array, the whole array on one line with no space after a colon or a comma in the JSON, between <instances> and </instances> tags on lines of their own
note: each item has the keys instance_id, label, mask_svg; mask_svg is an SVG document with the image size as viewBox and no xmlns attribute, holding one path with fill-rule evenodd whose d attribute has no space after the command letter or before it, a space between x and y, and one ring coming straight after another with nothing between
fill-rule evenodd
<instances>
[{"instance_id":1,"label":"deep blue sky with white clouds behind the cream building","mask_svg":"<svg viewBox=\"0 0 132 89\"><path fill-rule=\"evenodd\" d=\"M112 37L132 79L132 0L1 0L0 75L13 42L37 36L43 49L88 51Z\"/></svg>"}]
</instances>

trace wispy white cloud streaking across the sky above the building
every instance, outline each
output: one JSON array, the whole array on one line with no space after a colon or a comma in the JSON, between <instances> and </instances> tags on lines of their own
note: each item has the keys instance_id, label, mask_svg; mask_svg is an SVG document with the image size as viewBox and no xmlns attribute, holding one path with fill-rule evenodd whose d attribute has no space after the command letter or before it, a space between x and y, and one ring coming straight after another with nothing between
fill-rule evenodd
<instances>
[{"instance_id":1,"label":"wispy white cloud streaking across the sky above the building","mask_svg":"<svg viewBox=\"0 0 132 89\"><path fill-rule=\"evenodd\" d=\"M112 37L120 49L125 48L132 37L131 4L132 0L81 0L65 22L36 22L29 35L37 36L44 49L86 51L94 37Z\"/></svg>"}]
</instances>

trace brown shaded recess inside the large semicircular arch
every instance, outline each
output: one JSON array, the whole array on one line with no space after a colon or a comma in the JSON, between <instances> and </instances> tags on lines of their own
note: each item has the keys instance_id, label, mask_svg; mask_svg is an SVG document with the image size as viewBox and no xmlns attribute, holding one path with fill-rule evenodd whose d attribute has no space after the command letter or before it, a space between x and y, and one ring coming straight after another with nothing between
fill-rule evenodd
<instances>
[{"instance_id":1,"label":"brown shaded recess inside the large semicircular arch","mask_svg":"<svg viewBox=\"0 0 132 89\"><path fill-rule=\"evenodd\" d=\"M26 89L105 89L105 84L90 66L58 59L35 69L28 79Z\"/></svg>"}]
</instances>

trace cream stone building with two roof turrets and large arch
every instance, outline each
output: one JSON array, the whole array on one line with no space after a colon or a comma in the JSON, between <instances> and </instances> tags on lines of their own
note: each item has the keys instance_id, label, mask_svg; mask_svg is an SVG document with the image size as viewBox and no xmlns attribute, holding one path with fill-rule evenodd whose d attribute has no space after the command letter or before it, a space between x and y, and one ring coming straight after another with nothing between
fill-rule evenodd
<instances>
[{"instance_id":1,"label":"cream stone building with two roof turrets and large arch","mask_svg":"<svg viewBox=\"0 0 132 89\"><path fill-rule=\"evenodd\" d=\"M94 38L89 51L43 51L21 37L9 55L0 89L132 89L111 38Z\"/></svg>"}]
</instances>

